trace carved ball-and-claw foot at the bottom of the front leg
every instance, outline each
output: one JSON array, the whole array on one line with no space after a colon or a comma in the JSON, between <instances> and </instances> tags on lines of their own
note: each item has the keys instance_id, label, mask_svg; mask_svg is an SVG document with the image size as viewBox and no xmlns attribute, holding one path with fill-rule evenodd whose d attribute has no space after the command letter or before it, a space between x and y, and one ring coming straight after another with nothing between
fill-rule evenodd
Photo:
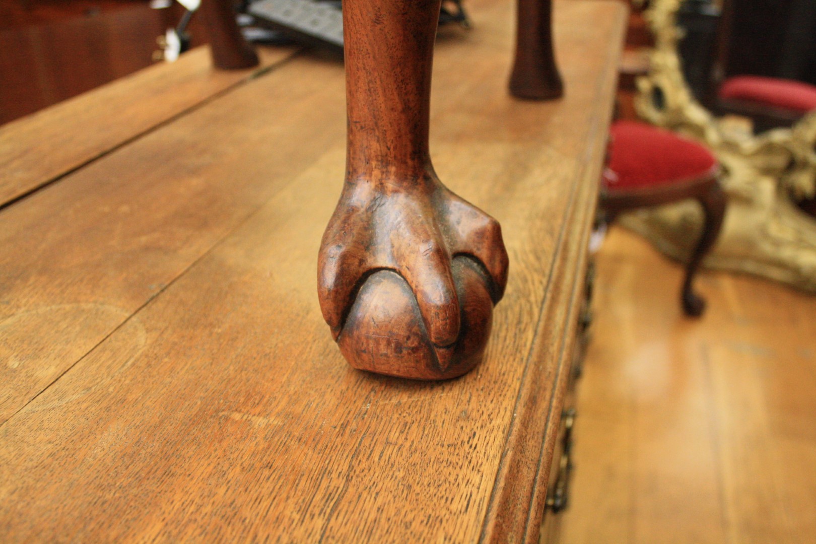
<instances>
[{"instance_id":1,"label":"carved ball-and-claw foot at the bottom of the front leg","mask_svg":"<svg viewBox=\"0 0 816 544\"><path fill-rule=\"evenodd\" d=\"M446 379L478 364L508 254L495 219L418 179L352 179L323 236L318 291L356 369Z\"/></svg>"}]
</instances>

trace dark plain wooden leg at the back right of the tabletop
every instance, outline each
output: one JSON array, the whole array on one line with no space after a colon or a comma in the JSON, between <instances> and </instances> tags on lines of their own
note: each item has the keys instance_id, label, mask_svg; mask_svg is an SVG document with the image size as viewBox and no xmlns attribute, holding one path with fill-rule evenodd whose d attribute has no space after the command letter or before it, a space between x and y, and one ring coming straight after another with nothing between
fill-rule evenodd
<instances>
[{"instance_id":1,"label":"dark plain wooden leg at the back right of the tabletop","mask_svg":"<svg viewBox=\"0 0 816 544\"><path fill-rule=\"evenodd\" d=\"M516 61L510 92L518 98L551 100L564 94L552 51L552 0L517 0Z\"/></svg>"}]
</instances>

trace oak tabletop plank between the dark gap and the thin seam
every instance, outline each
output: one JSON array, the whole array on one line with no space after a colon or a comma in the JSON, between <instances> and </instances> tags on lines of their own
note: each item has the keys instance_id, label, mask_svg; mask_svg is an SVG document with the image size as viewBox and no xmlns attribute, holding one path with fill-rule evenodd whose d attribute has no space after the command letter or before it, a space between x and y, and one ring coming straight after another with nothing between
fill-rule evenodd
<instances>
[{"instance_id":1,"label":"oak tabletop plank between the dark gap and the thin seam","mask_svg":"<svg viewBox=\"0 0 816 544\"><path fill-rule=\"evenodd\" d=\"M342 67L281 69L2 210L0 319L36 364L0 365L0 421L344 137Z\"/></svg>"}]
</instances>

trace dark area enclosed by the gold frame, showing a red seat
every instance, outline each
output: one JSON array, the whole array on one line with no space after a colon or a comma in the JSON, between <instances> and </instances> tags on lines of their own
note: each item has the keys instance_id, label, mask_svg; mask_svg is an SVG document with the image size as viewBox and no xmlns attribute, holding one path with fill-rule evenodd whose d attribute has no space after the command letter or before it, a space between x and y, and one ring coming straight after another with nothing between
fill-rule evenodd
<instances>
[{"instance_id":1,"label":"dark area enclosed by the gold frame, showing a red seat","mask_svg":"<svg viewBox=\"0 0 816 544\"><path fill-rule=\"evenodd\" d=\"M685 80L712 112L758 134L816 108L816 3L685 0L676 21Z\"/></svg>"}]
</instances>

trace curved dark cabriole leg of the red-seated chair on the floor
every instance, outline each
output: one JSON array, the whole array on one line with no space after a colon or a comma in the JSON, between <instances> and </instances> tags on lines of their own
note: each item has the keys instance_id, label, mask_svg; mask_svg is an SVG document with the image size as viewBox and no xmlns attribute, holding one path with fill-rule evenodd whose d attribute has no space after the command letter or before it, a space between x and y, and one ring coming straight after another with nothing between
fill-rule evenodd
<instances>
[{"instance_id":1,"label":"curved dark cabriole leg of the red-seated chair on the floor","mask_svg":"<svg viewBox=\"0 0 816 544\"><path fill-rule=\"evenodd\" d=\"M700 263L703 262L706 254L712 249L717 235L720 233L722 220L725 217L725 193L722 192L720 184L714 183L701 197L698 197L700 205L703 206L705 219L703 221L703 233L691 254L689 264L685 269L685 281L681 291L681 301L683 311L688 316L702 316L706 309L706 301L698 294L694 293L692 282L697 273Z\"/></svg>"}]
</instances>

